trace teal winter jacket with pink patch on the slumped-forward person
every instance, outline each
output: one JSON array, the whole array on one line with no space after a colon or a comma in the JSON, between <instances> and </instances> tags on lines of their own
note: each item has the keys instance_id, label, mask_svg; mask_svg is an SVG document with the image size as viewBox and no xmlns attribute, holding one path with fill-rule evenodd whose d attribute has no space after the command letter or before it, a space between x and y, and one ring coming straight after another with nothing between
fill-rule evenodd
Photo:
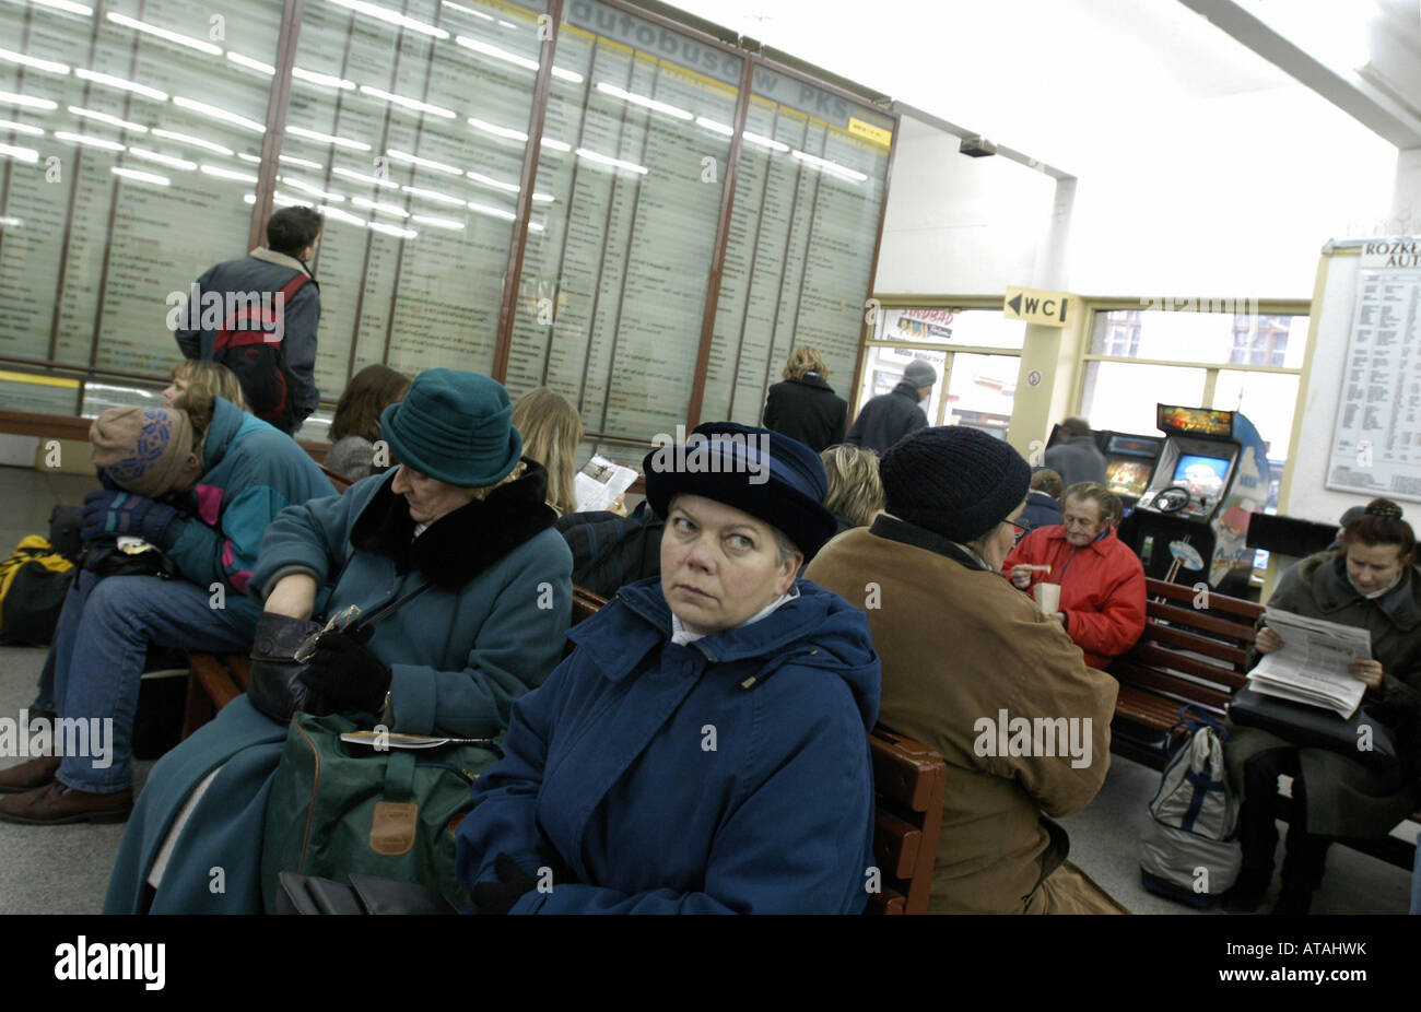
<instances>
[{"instance_id":1,"label":"teal winter jacket with pink patch on the slumped-forward person","mask_svg":"<svg viewBox=\"0 0 1421 1012\"><path fill-rule=\"evenodd\" d=\"M175 520L168 550L178 570L200 587L225 583L226 607L250 613L261 605L247 598L247 583L271 519L293 503L334 496L320 466L291 436L260 418L216 398L202 443L203 475L192 490L198 516Z\"/></svg>"}]
</instances>

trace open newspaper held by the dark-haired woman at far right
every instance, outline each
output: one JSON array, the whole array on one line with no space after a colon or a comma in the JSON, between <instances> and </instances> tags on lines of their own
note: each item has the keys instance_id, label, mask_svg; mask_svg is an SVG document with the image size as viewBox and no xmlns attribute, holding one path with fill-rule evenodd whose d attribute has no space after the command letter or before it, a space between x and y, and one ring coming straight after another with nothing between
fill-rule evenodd
<instances>
[{"instance_id":1,"label":"open newspaper held by the dark-haired woman at far right","mask_svg":"<svg viewBox=\"0 0 1421 1012\"><path fill-rule=\"evenodd\" d=\"M1263 695L1330 709L1344 721L1357 712L1366 684L1347 674L1356 660L1371 657L1371 634L1356 625L1263 610L1282 650L1265 654L1249 672L1249 687Z\"/></svg>"}]
</instances>

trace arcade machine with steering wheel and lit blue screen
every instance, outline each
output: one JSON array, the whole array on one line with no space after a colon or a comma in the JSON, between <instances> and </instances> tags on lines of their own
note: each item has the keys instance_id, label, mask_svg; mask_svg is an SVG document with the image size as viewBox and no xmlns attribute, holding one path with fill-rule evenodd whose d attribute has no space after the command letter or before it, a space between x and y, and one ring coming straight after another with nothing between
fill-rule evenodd
<instances>
[{"instance_id":1,"label":"arcade machine with steering wheel and lit blue screen","mask_svg":"<svg viewBox=\"0 0 1421 1012\"><path fill-rule=\"evenodd\" d=\"M1249 520L1268 502L1263 439L1236 411L1161 404L1158 466L1120 539L1135 550L1145 576L1174 583L1206 580L1219 593L1246 597L1255 549Z\"/></svg>"}]
</instances>

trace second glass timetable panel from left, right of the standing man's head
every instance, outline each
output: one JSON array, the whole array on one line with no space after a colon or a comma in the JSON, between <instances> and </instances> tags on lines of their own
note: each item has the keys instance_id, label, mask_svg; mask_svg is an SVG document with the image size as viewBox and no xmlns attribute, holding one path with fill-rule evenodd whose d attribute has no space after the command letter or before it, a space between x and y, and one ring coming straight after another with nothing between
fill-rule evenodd
<instances>
[{"instance_id":1,"label":"second glass timetable panel from left, right of the standing man's head","mask_svg":"<svg viewBox=\"0 0 1421 1012\"><path fill-rule=\"evenodd\" d=\"M371 362L411 377L492 371L541 11L306 6L276 203L325 216L314 264L325 399Z\"/></svg>"}]
</instances>

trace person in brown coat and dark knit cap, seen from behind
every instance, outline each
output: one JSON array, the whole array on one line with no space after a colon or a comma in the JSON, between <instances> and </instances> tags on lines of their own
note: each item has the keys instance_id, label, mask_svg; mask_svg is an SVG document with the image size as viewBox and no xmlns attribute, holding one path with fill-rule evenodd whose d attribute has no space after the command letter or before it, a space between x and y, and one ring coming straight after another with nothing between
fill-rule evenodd
<instances>
[{"instance_id":1,"label":"person in brown coat and dark knit cap, seen from behind","mask_svg":"<svg viewBox=\"0 0 1421 1012\"><path fill-rule=\"evenodd\" d=\"M948 763L929 910L1127 913L1066 861L1050 820L1104 783L1117 684L998 573L1019 537L1026 461L939 426L904 438L880 472L888 515L836 537L804 576L868 614L880 722Z\"/></svg>"}]
</instances>

